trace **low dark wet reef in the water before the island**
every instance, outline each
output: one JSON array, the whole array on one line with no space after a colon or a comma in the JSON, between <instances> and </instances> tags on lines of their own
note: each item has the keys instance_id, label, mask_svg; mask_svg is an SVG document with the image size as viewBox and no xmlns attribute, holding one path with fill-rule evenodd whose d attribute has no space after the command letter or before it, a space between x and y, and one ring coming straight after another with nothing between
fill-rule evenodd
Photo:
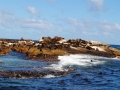
<instances>
[{"instance_id":1,"label":"low dark wet reef in the water before the island","mask_svg":"<svg viewBox=\"0 0 120 90\"><path fill-rule=\"evenodd\" d=\"M65 76L73 71L0 71L0 77L3 78L43 78L47 75Z\"/></svg>"}]
</instances>

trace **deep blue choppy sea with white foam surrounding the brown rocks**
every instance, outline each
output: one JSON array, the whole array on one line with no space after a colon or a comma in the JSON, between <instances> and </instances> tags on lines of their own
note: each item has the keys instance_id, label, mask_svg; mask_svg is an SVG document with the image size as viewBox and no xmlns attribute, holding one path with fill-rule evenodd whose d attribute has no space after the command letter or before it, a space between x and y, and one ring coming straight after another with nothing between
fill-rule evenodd
<instances>
[{"instance_id":1,"label":"deep blue choppy sea with white foam surrounding the brown rocks","mask_svg":"<svg viewBox=\"0 0 120 90\"><path fill-rule=\"evenodd\" d=\"M120 48L119 45L113 47ZM24 56L16 52L1 56L0 70L74 69L74 72L37 79L0 77L0 90L120 90L120 59L81 54L59 56L60 62L46 63L23 60Z\"/></svg>"}]
</instances>

